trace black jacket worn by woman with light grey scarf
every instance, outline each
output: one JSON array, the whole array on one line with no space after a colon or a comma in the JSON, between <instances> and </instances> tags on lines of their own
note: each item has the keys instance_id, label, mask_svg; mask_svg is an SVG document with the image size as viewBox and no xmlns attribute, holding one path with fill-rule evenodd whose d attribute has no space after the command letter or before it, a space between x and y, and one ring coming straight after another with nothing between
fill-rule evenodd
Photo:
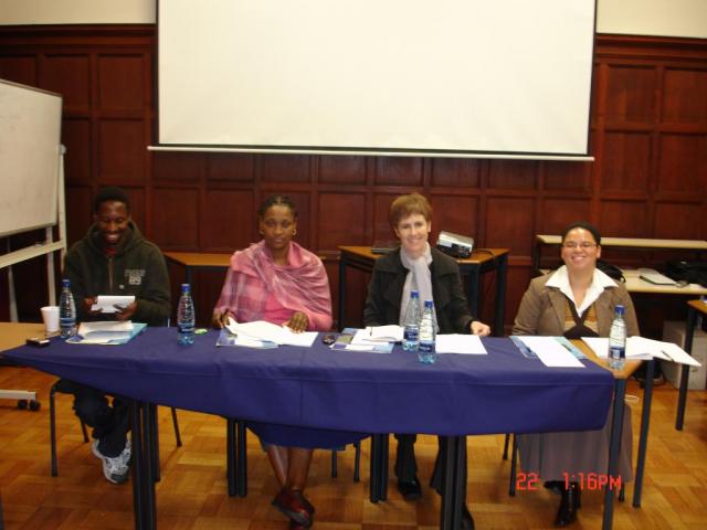
<instances>
[{"instance_id":1,"label":"black jacket worn by woman with light grey scarf","mask_svg":"<svg viewBox=\"0 0 707 530\"><path fill-rule=\"evenodd\" d=\"M460 267L453 258L436 248L431 248L431 252L432 296L440 332L471 333L469 325L476 319L468 310ZM400 321L400 304L407 276L408 269L400 261L400 248L376 261L363 309L365 326L387 326Z\"/></svg>"}]
</instances>

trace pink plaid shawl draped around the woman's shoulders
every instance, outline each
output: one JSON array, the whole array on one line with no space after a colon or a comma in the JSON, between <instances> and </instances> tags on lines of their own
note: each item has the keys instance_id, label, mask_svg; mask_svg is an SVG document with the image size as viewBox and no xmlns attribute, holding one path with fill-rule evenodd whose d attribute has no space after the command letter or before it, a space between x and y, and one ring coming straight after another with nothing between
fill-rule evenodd
<instances>
[{"instance_id":1,"label":"pink plaid shawl draped around the woman's shoulders","mask_svg":"<svg viewBox=\"0 0 707 530\"><path fill-rule=\"evenodd\" d=\"M229 309L240 322L260 320L273 294L286 309L307 315L308 330L330 330L331 295L321 259L291 242L287 261L275 264L263 241L235 252L215 310Z\"/></svg>"}]
</instances>

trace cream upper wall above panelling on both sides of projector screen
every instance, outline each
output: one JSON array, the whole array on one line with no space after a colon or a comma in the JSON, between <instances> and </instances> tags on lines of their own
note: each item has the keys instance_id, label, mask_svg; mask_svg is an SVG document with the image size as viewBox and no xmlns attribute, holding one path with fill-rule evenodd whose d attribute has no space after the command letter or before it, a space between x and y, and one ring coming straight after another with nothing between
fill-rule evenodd
<instances>
[{"instance_id":1,"label":"cream upper wall above panelling on both sides of projector screen","mask_svg":"<svg viewBox=\"0 0 707 530\"><path fill-rule=\"evenodd\" d=\"M0 24L152 24L157 0L0 0ZM707 39L707 0L598 0L597 31Z\"/></svg>"}]
</instances>

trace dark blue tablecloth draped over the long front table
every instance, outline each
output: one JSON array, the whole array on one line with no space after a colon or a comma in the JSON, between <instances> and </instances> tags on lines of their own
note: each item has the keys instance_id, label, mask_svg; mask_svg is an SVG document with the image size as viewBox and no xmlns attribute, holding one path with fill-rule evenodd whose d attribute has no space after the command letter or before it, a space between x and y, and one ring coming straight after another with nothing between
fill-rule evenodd
<instances>
[{"instance_id":1,"label":"dark blue tablecloth draped over the long front table","mask_svg":"<svg viewBox=\"0 0 707 530\"><path fill-rule=\"evenodd\" d=\"M284 427L268 435L302 446L326 447L368 433L601 428L613 392L611 372L592 362L550 369L525 358L507 338L484 339L488 356L442 354L433 365L398 346L381 354L335 351L318 340L312 348L272 350L218 348L215 341L210 331L182 347L175 328L150 328L124 346L52 339L49 348L23 346L4 356L127 398L323 430ZM302 439L307 432L310 439Z\"/></svg>"}]
</instances>

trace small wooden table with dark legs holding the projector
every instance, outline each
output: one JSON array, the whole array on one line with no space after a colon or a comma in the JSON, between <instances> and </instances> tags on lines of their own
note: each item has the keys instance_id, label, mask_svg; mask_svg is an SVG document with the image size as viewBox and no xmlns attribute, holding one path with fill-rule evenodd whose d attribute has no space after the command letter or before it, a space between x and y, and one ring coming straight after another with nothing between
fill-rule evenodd
<instances>
[{"instance_id":1,"label":"small wooden table with dark legs holding the projector","mask_svg":"<svg viewBox=\"0 0 707 530\"><path fill-rule=\"evenodd\" d=\"M339 246L339 327L344 328L346 320L346 269L348 267L370 273L376 259L381 255L373 254L370 246ZM481 275L496 272L496 305L494 309L493 333L504 336L504 310L506 308L506 275L508 272L508 248L474 248L469 257L458 258L460 273L468 276L466 284L466 300L475 317L483 306L483 289Z\"/></svg>"}]
</instances>

